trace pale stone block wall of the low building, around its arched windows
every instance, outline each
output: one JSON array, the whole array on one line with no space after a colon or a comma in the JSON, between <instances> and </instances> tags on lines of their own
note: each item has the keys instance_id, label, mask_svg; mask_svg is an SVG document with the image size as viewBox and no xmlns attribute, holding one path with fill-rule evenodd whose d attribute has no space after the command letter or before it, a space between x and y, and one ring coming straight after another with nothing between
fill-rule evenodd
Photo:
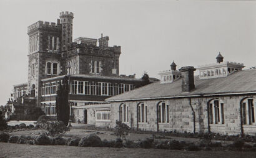
<instances>
[{"instance_id":1,"label":"pale stone block wall of the low building, around its arched windows","mask_svg":"<svg viewBox=\"0 0 256 158\"><path fill-rule=\"evenodd\" d=\"M215 132L219 134L241 134L240 101L247 96L222 96L209 98L177 98L169 100L145 100L147 105L147 123L137 123L137 105L142 101L126 101L111 103L111 128L119 120L119 107L125 103L129 106L129 125L134 129L146 131L175 132ZM209 124L208 104L219 99L224 103L224 124ZM165 101L169 105L169 123L157 123L157 105ZM194 120L195 114L195 120ZM195 126L194 126L195 124ZM256 124L243 125L244 134L256 134Z\"/></svg>"}]
</instances>

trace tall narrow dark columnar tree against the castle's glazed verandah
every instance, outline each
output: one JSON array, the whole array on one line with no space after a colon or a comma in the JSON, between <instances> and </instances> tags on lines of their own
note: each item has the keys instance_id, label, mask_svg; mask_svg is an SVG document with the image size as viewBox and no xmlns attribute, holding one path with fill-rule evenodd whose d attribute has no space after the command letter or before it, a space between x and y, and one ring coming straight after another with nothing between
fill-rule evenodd
<instances>
[{"instance_id":1,"label":"tall narrow dark columnar tree against the castle's glazed verandah","mask_svg":"<svg viewBox=\"0 0 256 158\"><path fill-rule=\"evenodd\" d=\"M56 96L56 113L57 121L63 121L64 124L69 124L69 83L67 77L64 77L63 85L59 81L59 90Z\"/></svg>"}]
</instances>

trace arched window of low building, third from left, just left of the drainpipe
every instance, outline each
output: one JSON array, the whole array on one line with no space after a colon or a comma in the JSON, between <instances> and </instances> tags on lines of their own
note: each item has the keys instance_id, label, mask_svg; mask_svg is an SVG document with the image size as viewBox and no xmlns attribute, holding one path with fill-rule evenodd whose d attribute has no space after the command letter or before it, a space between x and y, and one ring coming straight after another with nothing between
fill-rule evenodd
<instances>
[{"instance_id":1,"label":"arched window of low building, third from left, just left of the drainpipe","mask_svg":"<svg viewBox=\"0 0 256 158\"><path fill-rule=\"evenodd\" d=\"M169 105L165 105L165 102L157 105L157 117L159 123L169 123Z\"/></svg>"}]
</instances>

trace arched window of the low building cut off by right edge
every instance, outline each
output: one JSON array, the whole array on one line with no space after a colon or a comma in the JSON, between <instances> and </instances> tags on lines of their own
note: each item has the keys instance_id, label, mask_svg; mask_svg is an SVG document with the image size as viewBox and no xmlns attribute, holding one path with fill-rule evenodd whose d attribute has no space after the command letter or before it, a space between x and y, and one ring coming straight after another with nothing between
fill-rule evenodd
<instances>
[{"instance_id":1,"label":"arched window of the low building cut off by right edge","mask_svg":"<svg viewBox=\"0 0 256 158\"><path fill-rule=\"evenodd\" d=\"M254 98L247 98L242 103L243 124L255 124L256 102Z\"/></svg>"}]
</instances>

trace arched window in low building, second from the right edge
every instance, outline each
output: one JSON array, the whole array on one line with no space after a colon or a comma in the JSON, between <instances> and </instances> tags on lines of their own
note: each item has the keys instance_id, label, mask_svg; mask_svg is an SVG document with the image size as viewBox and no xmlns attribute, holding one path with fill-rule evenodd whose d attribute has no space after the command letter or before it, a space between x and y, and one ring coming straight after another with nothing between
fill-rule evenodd
<instances>
[{"instance_id":1,"label":"arched window in low building, second from the right edge","mask_svg":"<svg viewBox=\"0 0 256 158\"><path fill-rule=\"evenodd\" d=\"M224 124L224 103L214 99L209 103L210 124Z\"/></svg>"}]
</instances>

